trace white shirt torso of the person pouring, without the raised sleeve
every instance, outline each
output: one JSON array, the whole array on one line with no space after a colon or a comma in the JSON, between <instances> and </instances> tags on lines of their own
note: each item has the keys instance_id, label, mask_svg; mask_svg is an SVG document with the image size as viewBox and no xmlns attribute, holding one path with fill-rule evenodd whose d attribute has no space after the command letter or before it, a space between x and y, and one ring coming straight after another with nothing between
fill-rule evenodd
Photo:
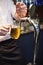
<instances>
[{"instance_id":1,"label":"white shirt torso of the person pouring, without the raised sleeve","mask_svg":"<svg viewBox=\"0 0 43 65\"><path fill-rule=\"evenodd\" d=\"M8 0L0 0L0 26L13 24L13 19L11 17L9 2ZM6 36L0 36L0 41L9 39L9 32Z\"/></svg>"}]
</instances>

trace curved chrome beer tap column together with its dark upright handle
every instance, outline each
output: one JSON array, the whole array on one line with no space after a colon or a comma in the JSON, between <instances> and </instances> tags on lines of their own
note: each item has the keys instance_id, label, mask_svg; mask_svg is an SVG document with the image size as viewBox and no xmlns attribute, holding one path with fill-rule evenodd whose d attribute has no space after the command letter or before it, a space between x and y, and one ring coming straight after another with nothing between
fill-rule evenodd
<instances>
[{"instance_id":1,"label":"curved chrome beer tap column together with its dark upright handle","mask_svg":"<svg viewBox=\"0 0 43 65\"><path fill-rule=\"evenodd\" d=\"M40 25L39 25L39 20L37 18L34 19L34 13L35 13L35 5L34 4L30 4L29 5L29 17L25 17L25 18L21 18L21 21L27 21L29 22L29 24L32 24L33 28L34 28L34 56L33 56L33 63L29 63L29 65L36 65L36 57L37 57L37 53L38 53L38 49L39 49L39 32L40 32Z\"/></svg>"}]
</instances>

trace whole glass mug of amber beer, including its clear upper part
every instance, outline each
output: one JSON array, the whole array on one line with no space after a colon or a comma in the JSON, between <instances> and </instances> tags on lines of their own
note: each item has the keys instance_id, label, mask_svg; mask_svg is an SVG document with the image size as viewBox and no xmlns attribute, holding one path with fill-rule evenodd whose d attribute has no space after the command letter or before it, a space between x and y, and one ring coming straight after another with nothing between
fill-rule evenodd
<instances>
[{"instance_id":1,"label":"whole glass mug of amber beer, including its clear upper part","mask_svg":"<svg viewBox=\"0 0 43 65\"><path fill-rule=\"evenodd\" d=\"M18 39L20 37L20 22L14 21L11 28L11 38Z\"/></svg>"}]
</instances>

